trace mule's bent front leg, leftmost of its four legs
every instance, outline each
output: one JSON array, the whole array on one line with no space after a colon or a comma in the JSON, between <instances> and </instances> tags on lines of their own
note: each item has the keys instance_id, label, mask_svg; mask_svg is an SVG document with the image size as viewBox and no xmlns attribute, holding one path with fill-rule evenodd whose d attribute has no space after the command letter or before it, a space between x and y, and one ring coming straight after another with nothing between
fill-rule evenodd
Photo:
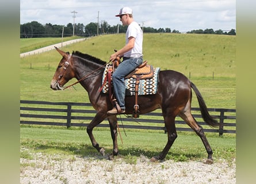
<instances>
[{"instance_id":1,"label":"mule's bent front leg, leftmost of its four legs","mask_svg":"<svg viewBox=\"0 0 256 184\"><path fill-rule=\"evenodd\" d=\"M97 113L96 116L93 118L93 120L88 125L86 131L90 137L91 144L93 144L93 147L96 148L98 152L100 152L101 155L105 156L105 149L100 147L100 145L97 143L97 141L94 139L93 136L93 128L96 127L98 124L100 124L106 116L104 116L101 113Z\"/></svg>"}]
</instances>

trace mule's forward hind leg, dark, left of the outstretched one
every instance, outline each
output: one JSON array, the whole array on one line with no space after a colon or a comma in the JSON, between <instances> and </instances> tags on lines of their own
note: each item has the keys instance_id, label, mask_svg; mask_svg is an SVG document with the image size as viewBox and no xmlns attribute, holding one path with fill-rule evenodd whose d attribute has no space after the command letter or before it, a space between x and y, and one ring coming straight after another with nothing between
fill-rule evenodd
<instances>
[{"instance_id":1,"label":"mule's forward hind leg, dark, left of the outstretched one","mask_svg":"<svg viewBox=\"0 0 256 184\"><path fill-rule=\"evenodd\" d=\"M163 160L166 157L167 153L169 152L171 145L173 145L175 139L177 138L177 132L175 127L175 117L164 116L164 118L165 118L165 128L167 131L168 141L165 148L163 148L163 151L161 152L161 154L159 156L152 157L150 159L151 162L156 162L157 160Z\"/></svg>"}]
</instances>

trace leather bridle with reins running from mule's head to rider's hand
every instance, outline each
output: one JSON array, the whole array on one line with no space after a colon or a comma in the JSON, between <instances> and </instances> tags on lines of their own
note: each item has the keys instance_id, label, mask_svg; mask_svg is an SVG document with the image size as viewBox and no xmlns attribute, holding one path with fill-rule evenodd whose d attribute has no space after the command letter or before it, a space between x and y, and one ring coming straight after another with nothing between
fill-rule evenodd
<instances>
[{"instance_id":1,"label":"leather bridle with reins running from mule's head to rider's hand","mask_svg":"<svg viewBox=\"0 0 256 184\"><path fill-rule=\"evenodd\" d=\"M80 58L80 59L83 59L83 58L81 58L81 57L79 57L79 58ZM58 79L57 79L57 81L56 81L58 88L61 89L61 90L65 90L65 89L67 89L68 87L71 87L71 86L76 85L77 83L79 83L79 82L85 80L89 75L93 74L95 71L100 70L101 68L105 67L108 63L110 63L110 61L109 61L109 62L105 63L104 65L102 65L101 67L98 67L96 70L94 70L94 71L90 72L89 74L83 76L83 78L79 79L77 82L72 83L72 85L69 85L69 86L66 86L66 87L61 87L60 84L59 84L59 82L60 82L60 79L64 76L65 72L67 71L68 66L70 65L70 63L69 63L69 60L70 60L70 59L71 59L71 55L68 55L68 59L66 60L66 62L64 62L63 70L62 70L62 72L60 72L60 74L59 74L59 76L58 76ZM83 59L83 60L85 60L85 59Z\"/></svg>"}]
</instances>

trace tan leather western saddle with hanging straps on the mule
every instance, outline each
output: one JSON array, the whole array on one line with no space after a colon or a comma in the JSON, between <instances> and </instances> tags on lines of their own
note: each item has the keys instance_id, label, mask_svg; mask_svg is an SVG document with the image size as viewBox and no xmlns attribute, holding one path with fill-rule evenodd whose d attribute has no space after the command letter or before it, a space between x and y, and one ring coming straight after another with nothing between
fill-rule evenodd
<instances>
[{"instance_id":1,"label":"tan leather western saddle with hanging straps on the mule","mask_svg":"<svg viewBox=\"0 0 256 184\"><path fill-rule=\"evenodd\" d=\"M106 77L104 79L104 83L106 81L108 81L108 84L109 84L109 98L112 99L112 101L115 103L117 111L119 112L120 107L119 107L118 103L116 102L116 99L113 98L112 86L111 86L112 74L113 74L114 70L116 70L118 65L119 65L119 60L115 60L115 61L112 62L112 65L108 66L108 74L106 75ZM147 60L146 60L142 64L140 64L139 67L135 68L135 70L133 70L131 73L129 73L127 76L125 76L125 79L128 79L128 78L136 79L136 83L135 83L135 105L133 106L134 109L133 109L133 114L132 114L132 116L134 118L139 117L139 105L137 104L137 98L138 98L138 89L139 89L140 79L152 78L153 75L154 75L153 66L148 65ZM102 85L102 87L103 86L104 85ZM100 89L100 91L101 90L102 89Z\"/></svg>"}]
</instances>

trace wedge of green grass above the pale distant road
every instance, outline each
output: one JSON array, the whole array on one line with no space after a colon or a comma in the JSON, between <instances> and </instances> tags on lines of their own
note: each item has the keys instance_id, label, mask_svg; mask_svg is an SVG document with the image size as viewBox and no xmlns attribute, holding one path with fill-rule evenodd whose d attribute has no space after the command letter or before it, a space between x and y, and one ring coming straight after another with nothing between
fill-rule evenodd
<instances>
[{"instance_id":1,"label":"wedge of green grass above the pale distant road","mask_svg":"<svg viewBox=\"0 0 256 184\"><path fill-rule=\"evenodd\" d=\"M63 37L63 41L81 39L82 37L72 36L72 37ZM48 45L61 43L62 38L33 38L33 39L20 39L20 53L33 51L35 49L39 49L42 47L46 47Z\"/></svg>"}]
</instances>

